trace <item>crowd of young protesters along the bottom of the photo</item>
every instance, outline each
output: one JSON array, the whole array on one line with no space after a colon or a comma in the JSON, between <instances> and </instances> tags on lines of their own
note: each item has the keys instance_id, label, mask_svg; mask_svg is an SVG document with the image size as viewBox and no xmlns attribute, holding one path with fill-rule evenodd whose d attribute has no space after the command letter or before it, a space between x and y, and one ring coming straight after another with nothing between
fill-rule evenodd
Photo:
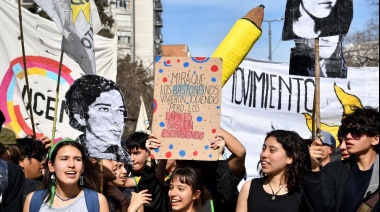
<instances>
[{"instance_id":1,"label":"crowd of young protesters along the bottom of the photo","mask_svg":"<svg viewBox=\"0 0 380 212\"><path fill-rule=\"evenodd\" d=\"M240 191L245 167L256 165L245 164L244 146L223 129L210 145L214 162L154 160L162 141L143 132L123 141L132 164L90 157L69 138L7 138L0 211L379 211L378 109L346 114L338 145L327 132L315 137L268 132L256 164L261 177ZM340 157L331 160L336 146Z\"/></svg>"}]
</instances>

